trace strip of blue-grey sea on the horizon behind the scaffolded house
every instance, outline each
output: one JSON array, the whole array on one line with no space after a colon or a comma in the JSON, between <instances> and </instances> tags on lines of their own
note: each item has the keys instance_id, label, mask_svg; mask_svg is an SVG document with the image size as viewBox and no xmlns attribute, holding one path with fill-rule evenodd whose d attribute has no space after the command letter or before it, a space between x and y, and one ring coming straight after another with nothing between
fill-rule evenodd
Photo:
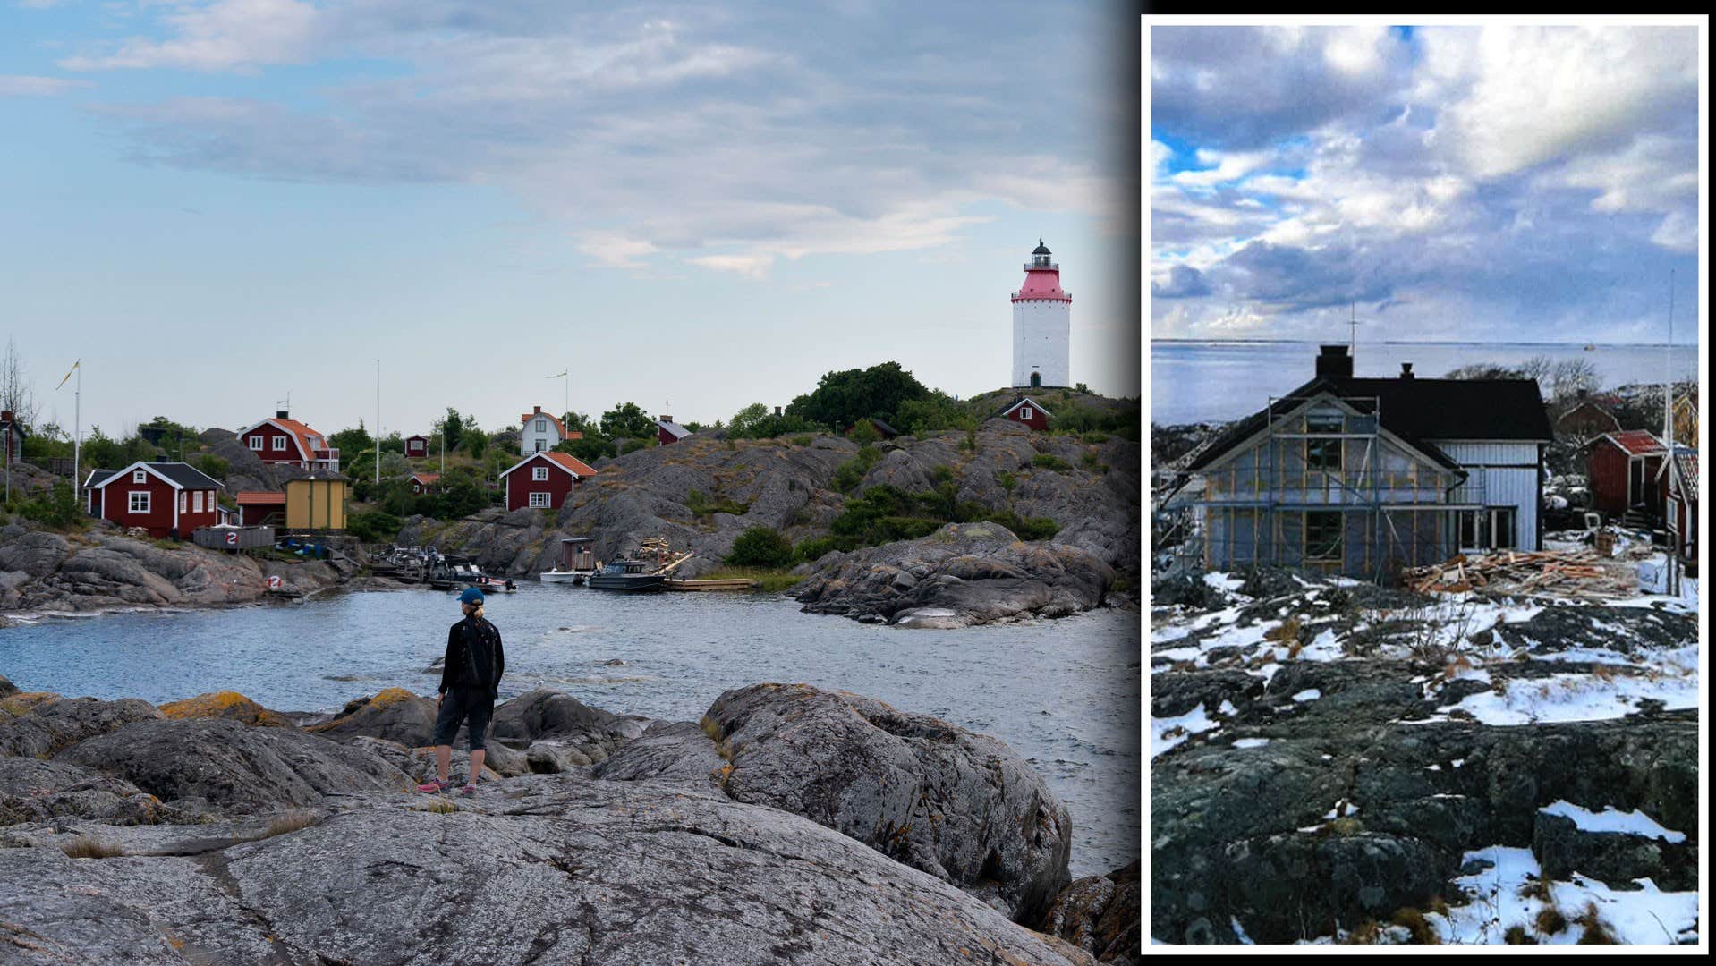
<instances>
[{"instance_id":1,"label":"strip of blue-grey sea on the horizon behind the scaffolded house","mask_svg":"<svg viewBox=\"0 0 1716 966\"><path fill-rule=\"evenodd\" d=\"M1316 376L1316 343L1301 341L1155 341L1150 343L1150 422L1177 426L1251 415L1268 396L1285 395ZM1534 355L1553 362L1586 359L1606 388L1659 383L1666 362L1661 345L1529 343L1359 343L1352 372L1361 377L1399 376L1411 362L1421 377L1441 377L1474 362L1515 365ZM1675 345L1675 379L1699 374L1699 347Z\"/></svg>"}]
</instances>

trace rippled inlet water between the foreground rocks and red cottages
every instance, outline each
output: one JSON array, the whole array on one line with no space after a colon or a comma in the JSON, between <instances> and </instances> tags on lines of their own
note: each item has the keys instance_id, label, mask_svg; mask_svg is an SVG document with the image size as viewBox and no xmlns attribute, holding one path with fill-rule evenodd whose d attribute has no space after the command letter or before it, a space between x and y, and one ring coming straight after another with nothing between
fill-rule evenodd
<instances>
[{"instance_id":1,"label":"rippled inlet water between the foreground rocks and red cottages","mask_svg":"<svg viewBox=\"0 0 1716 966\"><path fill-rule=\"evenodd\" d=\"M45 619L0 630L0 674L63 695L161 703L232 688L273 709L336 710L384 686L434 693L427 667L455 619L455 599L429 590ZM549 686L697 721L721 691L757 681L872 695L1028 758L1072 812L1074 875L1138 858L1138 613L908 631L801 614L782 597L525 583L491 597L489 619L506 642L503 698Z\"/></svg>"}]
</instances>

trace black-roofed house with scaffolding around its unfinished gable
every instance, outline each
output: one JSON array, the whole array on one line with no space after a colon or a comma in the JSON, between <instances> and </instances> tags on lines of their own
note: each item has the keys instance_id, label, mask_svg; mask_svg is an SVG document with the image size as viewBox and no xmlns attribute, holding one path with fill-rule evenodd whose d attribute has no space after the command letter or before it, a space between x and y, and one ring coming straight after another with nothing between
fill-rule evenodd
<instances>
[{"instance_id":1,"label":"black-roofed house with scaffolding around its unfinished gable","mask_svg":"<svg viewBox=\"0 0 1716 966\"><path fill-rule=\"evenodd\" d=\"M1167 501L1186 563L1275 565L1392 582L1460 551L1541 549L1534 379L1357 379L1345 345L1316 377L1229 427Z\"/></svg>"}]
</instances>

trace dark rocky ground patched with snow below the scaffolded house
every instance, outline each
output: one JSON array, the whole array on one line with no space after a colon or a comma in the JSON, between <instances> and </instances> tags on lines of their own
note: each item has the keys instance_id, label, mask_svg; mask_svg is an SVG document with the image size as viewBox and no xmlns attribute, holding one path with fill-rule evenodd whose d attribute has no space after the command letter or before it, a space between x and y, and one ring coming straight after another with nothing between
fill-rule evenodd
<instances>
[{"instance_id":1,"label":"dark rocky ground patched with snow below the scaffolded house","mask_svg":"<svg viewBox=\"0 0 1716 966\"><path fill-rule=\"evenodd\" d=\"M1697 940L1695 607L1261 570L1157 601L1157 940Z\"/></svg>"}]
</instances>

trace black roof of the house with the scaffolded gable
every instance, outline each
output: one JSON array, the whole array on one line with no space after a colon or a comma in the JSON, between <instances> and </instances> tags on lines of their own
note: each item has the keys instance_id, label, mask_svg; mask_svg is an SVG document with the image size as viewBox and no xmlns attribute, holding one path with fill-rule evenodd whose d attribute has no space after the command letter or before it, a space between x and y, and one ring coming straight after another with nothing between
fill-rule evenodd
<instances>
[{"instance_id":1,"label":"black roof of the house with the scaffolded gable","mask_svg":"<svg viewBox=\"0 0 1716 966\"><path fill-rule=\"evenodd\" d=\"M1459 463L1431 439L1553 439L1550 414L1536 379L1357 379L1320 376L1287 393L1275 412L1330 391L1359 412L1381 407L1383 429L1400 436L1450 468ZM1375 401L1373 401L1375 400ZM1258 410L1236 422L1198 456L1187 470L1199 470L1222 453L1261 431L1270 410Z\"/></svg>"}]
</instances>

